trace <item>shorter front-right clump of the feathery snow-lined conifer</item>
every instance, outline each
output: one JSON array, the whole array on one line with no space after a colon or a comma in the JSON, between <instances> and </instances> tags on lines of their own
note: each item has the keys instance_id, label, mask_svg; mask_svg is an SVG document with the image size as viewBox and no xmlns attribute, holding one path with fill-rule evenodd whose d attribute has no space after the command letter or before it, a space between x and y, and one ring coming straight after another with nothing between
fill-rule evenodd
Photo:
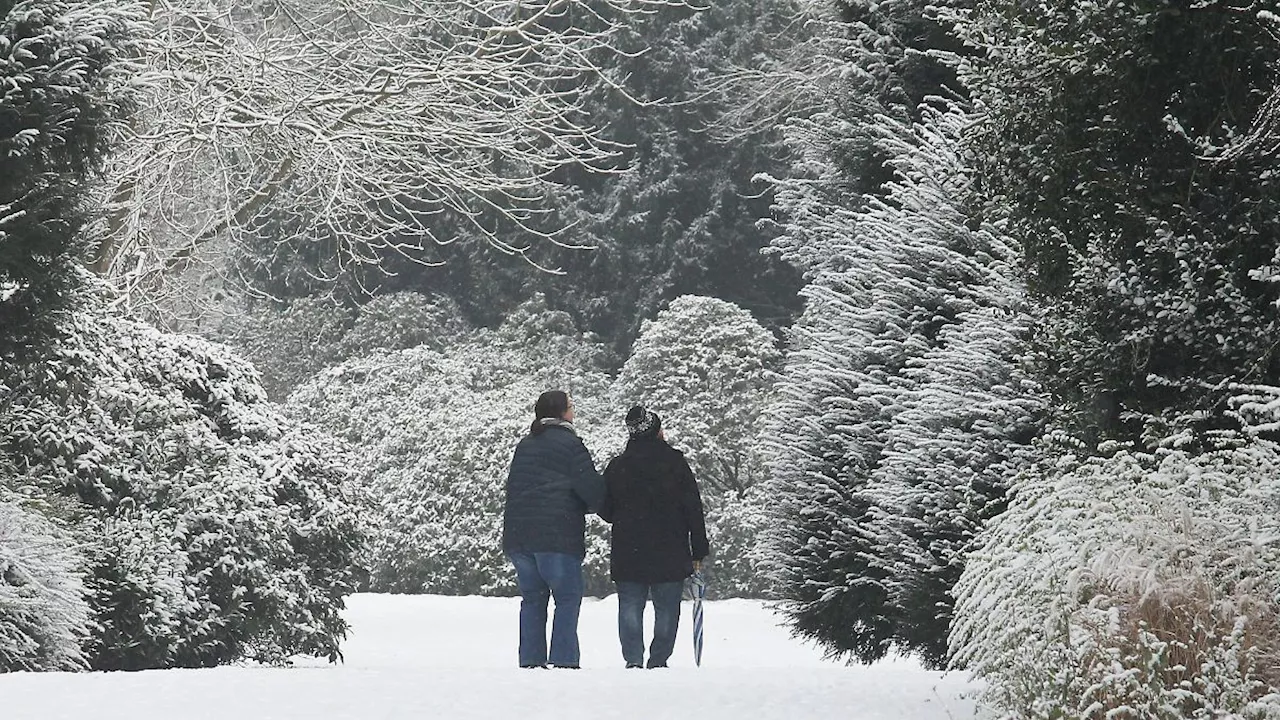
<instances>
[{"instance_id":1,"label":"shorter front-right clump of the feathery snow-lined conifer","mask_svg":"<svg viewBox=\"0 0 1280 720\"><path fill-rule=\"evenodd\" d=\"M896 642L925 662L947 661L952 588L986 523L1004 511L1011 480L1037 457L1044 401L1016 359L1029 318L1012 283L961 313L937 347L906 372L914 388L893 418L877 471L899 614ZM1000 297L998 293L1006 293Z\"/></svg>"}]
</instances>

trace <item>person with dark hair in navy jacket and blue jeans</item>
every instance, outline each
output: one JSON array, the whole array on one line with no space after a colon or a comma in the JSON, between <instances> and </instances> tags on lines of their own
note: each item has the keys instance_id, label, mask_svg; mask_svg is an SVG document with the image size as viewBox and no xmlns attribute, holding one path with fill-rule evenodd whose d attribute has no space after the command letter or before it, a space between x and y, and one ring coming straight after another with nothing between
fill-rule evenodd
<instances>
[{"instance_id":1,"label":"person with dark hair in navy jacket and blue jeans","mask_svg":"<svg viewBox=\"0 0 1280 720\"><path fill-rule=\"evenodd\" d=\"M604 479L573 429L573 401L544 392L534 424L511 460L502 515L502 550L520 588L520 666L579 666L586 514L604 500ZM547 602L556 598L547 652Z\"/></svg>"}]
</instances>

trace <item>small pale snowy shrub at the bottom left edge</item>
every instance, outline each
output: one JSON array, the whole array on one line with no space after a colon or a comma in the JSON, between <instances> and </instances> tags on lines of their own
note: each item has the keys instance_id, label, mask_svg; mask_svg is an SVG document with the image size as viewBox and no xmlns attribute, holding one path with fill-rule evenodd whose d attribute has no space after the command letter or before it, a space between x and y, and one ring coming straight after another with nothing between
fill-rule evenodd
<instances>
[{"instance_id":1,"label":"small pale snowy shrub at the bottom left edge","mask_svg":"<svg viewBox=\"0 0 1280 720\"><path fill-rule=\"evenodd\" d=\"M84 667L82 564L65 532L0 500L0 673Z\"/></svg>"}]
</instances>

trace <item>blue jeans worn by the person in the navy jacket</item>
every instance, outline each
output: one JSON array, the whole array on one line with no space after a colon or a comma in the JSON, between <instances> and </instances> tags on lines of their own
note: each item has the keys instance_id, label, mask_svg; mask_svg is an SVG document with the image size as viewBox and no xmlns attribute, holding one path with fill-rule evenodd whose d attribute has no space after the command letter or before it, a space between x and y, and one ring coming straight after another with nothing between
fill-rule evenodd
<instances>
[{"instance_id":1,"label":"blue jeans worn by the person in the navy jacket","mask_svg":"<svg viewBox=\"0 0 1280 720\"><path fill-rule=\"evenodd\" d=\"M577 667L577 614L582 559L566 552L508 552L520 588L520 665ZM547 601L556 598L552 652L547 653Z\"/></svg>"}]
</instances>

